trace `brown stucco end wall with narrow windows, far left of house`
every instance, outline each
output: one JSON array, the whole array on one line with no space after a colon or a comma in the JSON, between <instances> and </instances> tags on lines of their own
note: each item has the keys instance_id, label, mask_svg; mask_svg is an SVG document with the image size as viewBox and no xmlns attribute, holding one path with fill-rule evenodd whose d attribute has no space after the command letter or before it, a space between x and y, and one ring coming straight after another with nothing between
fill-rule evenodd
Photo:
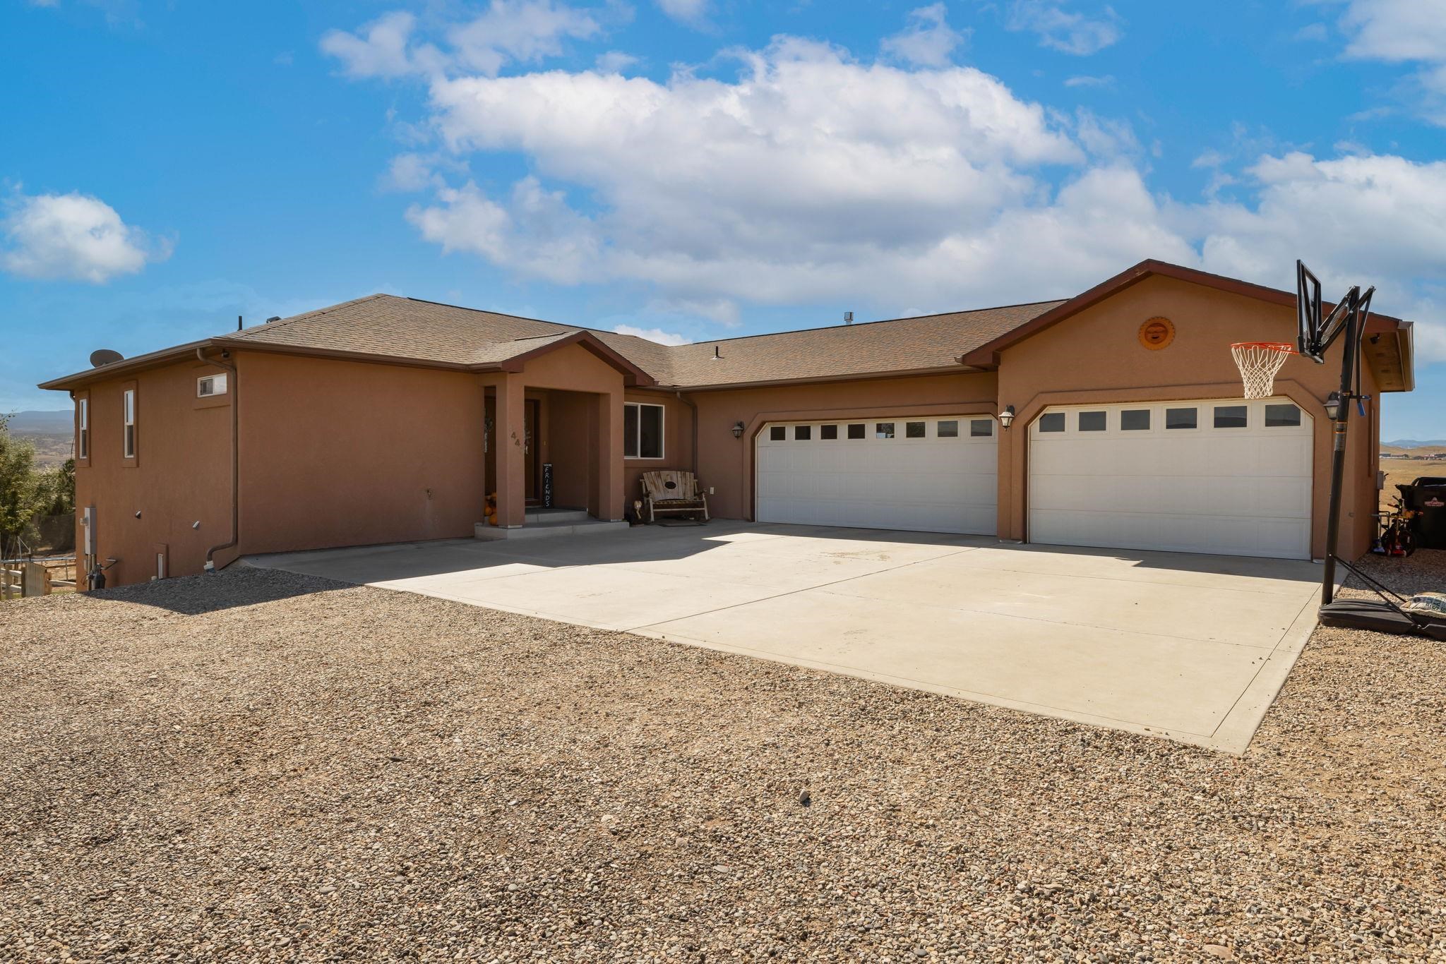
<instances>
[{"instance_id":1,"label":"brown stucco end wall with narrow windows, far left of house","mask_svg":"<svg viewBox=\"0 0 1446 964\"><path fill-rule=\"evenodd\" d=\"M188 361L77 393L90 397L90 460L75 465L77 519L85 506L95 506L97 552L120 559L106 572L107 585L152 578L161 545L171 574L197 572L207 548L230 539L231 408L195 397L195 380L220 371ZM132 386L136 458L124 460L121 392ZM192 528L197 522L200 528ZM77 552L84 551L84 538L77 523Z\"/></svg>"}]
</instances>

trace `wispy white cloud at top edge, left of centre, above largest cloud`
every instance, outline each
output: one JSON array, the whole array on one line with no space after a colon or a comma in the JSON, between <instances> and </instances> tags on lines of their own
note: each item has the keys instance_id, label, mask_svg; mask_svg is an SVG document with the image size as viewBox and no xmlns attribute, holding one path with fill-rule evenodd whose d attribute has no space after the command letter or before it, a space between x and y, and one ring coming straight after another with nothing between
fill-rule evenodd
<instances>
[{"instance_id":1,"label":"wispy white cloud at top edge, left of centre, above largest cloud","mask_svg":"<svg viewBox=\"0 0 1446 964\"><path fill-rule=\"evenodd\" d=\"M554 0L492 0L476 17L442 25L447 51L415 39L416 17L393 12L357 33L328 30L321 51L337 58L348 77L441 77L477 71L496 77L508 64L538 62L562 53L567 39L590 39L602 25L587 10Z\"/></svg>"}]
</instances>

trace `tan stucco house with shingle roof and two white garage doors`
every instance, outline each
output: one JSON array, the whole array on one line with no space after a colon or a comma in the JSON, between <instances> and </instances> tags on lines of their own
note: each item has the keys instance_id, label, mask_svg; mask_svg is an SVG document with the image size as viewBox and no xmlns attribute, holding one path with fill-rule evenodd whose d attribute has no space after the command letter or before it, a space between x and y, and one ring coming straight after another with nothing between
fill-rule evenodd
<instances>
[{"instance_id":1,"label":"tan stucco house with shingle roof and two white garage doors","mask_svg":"<svg viewBox=\"0 0 1446 964\"><path fill-rule=\"evenodd\" d=\"M680 347L373 295L42 387L75 400L78 545L113 585L471 536L490 493L499 528L547 525L544 474L616 520L651 468L696 471L717 517L1319 558L1339 361L1246 402L1229 354L1294 337L1294 295L1142 262L1067 301ZM1411 325L1372 315L1364 347L1348 558Z\"/></svg>"}]
</instances>

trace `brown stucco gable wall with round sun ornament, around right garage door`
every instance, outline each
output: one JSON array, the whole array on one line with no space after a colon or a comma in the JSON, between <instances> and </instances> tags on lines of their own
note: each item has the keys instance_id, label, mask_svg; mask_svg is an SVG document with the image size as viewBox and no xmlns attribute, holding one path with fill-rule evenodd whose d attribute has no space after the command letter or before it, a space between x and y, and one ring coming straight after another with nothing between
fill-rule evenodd
<instances>
[{"instance_id":1,"label":"brown stucco gable wall with round sun ornament, around right garage door","mask_svg":"<svg viewBox=\"0 0 1446 964\"><path fill-rule=\"evenodd\" d=\"M1168 318L1176 330L1160 350L1145 348L1138 338L1139 327L1154 317ZM998 403L1014 405L1019 418L999 439L999 535L1027 536L1027 428L1047 405L1239 397L1231 343L1294 338L1296 315L1288 306L1150 277L1005 350ZM1290 396L1316 425L1312 555L1317 558L1325 554L1330 484L1330 422L1322 403L1339 384L1340 350L1338 344L1326 364L1290 358L1275 379L1277 393ZM1366 390L1374 395L1374 382ZM1374 525L1372 439L1379 438L1374 400L1366 415L1353 422L1348 448L1342 512L1342 555L1348 558L1369 549Z\"/></svg>"}]
</instances>

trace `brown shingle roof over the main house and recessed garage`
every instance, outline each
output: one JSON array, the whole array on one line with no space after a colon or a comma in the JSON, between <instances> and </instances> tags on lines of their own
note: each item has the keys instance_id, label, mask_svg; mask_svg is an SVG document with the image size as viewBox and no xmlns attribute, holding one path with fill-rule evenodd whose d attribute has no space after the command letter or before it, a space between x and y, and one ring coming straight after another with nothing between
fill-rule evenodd
<instances>
[{"instance_id":1,"label":"brown shingle roof over the main house and recessed garage","mask_svg":"<svg viewBox=\"0 0 1446 964\"><path fill-rule=\"evenodd\" d=\"M661 345L612 331L593 334L659 384L703 387L953 369L962 353L1058 304L957 311L691 345ZM503 361L577 331L581 328L535 318L370 295L247 328L227 340L470 366Z\"/></svg>"}]
</instances>

